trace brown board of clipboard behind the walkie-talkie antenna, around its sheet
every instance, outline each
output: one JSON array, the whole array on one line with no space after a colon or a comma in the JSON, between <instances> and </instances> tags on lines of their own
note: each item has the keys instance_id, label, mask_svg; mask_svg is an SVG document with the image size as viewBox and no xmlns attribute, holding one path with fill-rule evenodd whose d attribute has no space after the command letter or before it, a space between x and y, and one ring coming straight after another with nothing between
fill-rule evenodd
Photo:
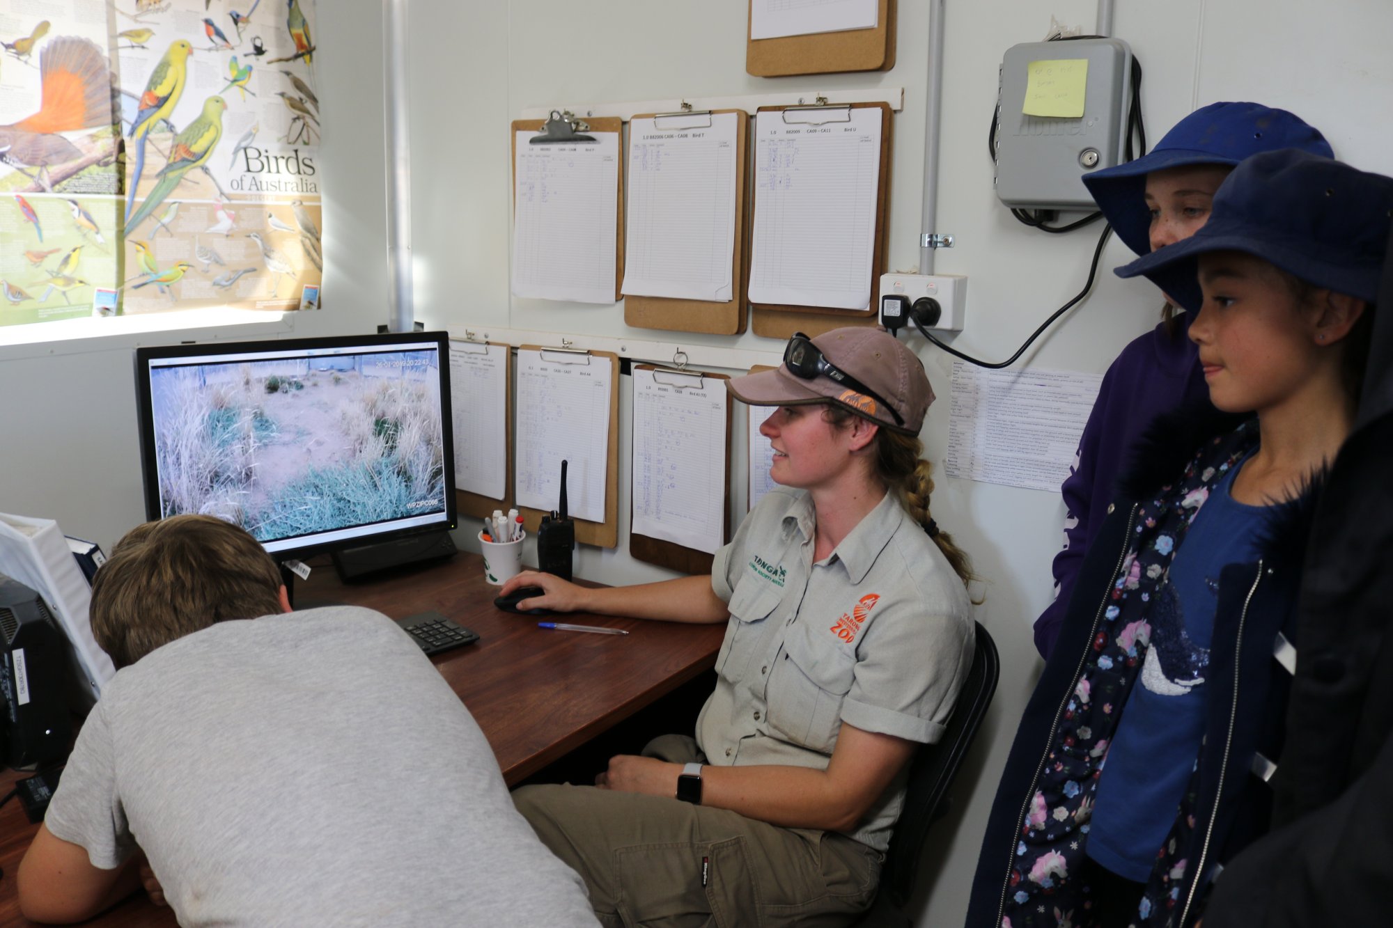
<instances>
[{"instance_id":1,"label":"brown board of clipboard behind the walkie-talkie antenna, around its sheet","mask_svg":"<svg viewBox=\"0 0 1393 928\"><path fill-rule=\"evenodd\" d=\"M581 470L577 467L577 461L571 460L570 464L570 486L567 489L567 496L573 500L571 517L575 520L575 541L582 545L595 545L598 548L614 548L618 545L618 355L613 351L585 351L579 348L573 348L570 346L550 347L539 344L524 344L518 346L518 401L517 401L517 438L514 447L514 474L528 461L525 456L528 454L528 447L538 440L535 435L524 435L524 429L535 428L535 417L532 412L535 410L525 410L522 404L524 383L522 378L529 376L525 369L527 362L521 353L536 351L539 353L542 361L557 362L557 364L575 364L575 365L606 365L609 371L609 396L605 397L605 403L609 410L609 426L605 433L603 440L603 488L605 488L605 506L602 520L581 518L575 514L574 506L578 503L577 493L577 472ZM584 358L584 361L582 361ZM559 361L560 359L560 361ZM557 394L560 399L560 394ZM568 399L574 399L570 393L564 394ZM556 414L561 414L564 418L564 410L553 410ZM596 461L588 461L588 465ZM557 467L557 471L560 468ZM559 477L559 474L557 474ZM584 479L584 477L582 477ZM514 484L515 499L521 500L524 497L524 488L521 484ZM518 514L522 516L522 527L529 534L536 534L542 524L542 516L550 514L553 506L547 509L534 509L529 506L520 504L517 507Z\"/></svg>"}]
</instances>

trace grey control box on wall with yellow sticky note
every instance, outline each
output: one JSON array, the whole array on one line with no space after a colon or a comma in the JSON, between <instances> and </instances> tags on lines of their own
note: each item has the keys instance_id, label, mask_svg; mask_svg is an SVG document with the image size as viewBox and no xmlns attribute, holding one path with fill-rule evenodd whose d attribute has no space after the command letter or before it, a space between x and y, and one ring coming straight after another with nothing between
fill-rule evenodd
<instances>
[{"instance_id":1,"label":"grey control box on wall with yellow sticky note","mask_svg":"<svg viewBox=\"0 0 1393 928\"><path fill-rule=\"evenodd\" d=\"M1096 209L1082 176L1123 157L1131 60L1131 47L1121 39L1027 42L1006 50L996 131L996 196L1004 205ZM1060 81L1064 89L1057 96L1063 106L1041 106L1055 75L1077 84ZM1052 109L1070 114L1032 114Z\"/></svg>"}]
</instances>

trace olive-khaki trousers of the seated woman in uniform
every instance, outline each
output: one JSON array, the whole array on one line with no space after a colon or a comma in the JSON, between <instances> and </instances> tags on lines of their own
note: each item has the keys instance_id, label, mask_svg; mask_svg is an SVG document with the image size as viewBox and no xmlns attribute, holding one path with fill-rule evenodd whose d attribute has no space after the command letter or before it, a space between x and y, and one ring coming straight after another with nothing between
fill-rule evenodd
<instances>
[{"instance_id":1,"label":"olive-khaki trousers of the seated woman in uniform","mask_svg":"<svg viewBox=\"0 0 1393 928\"><path fill-rule=\"evenodd\" d=\"M703 762L669 734L645 757ZM524 786L513 801L589 888L610 928L848 925L871 906L882 854L836 832L593 786Z\"/></svg>"}]
</instances>

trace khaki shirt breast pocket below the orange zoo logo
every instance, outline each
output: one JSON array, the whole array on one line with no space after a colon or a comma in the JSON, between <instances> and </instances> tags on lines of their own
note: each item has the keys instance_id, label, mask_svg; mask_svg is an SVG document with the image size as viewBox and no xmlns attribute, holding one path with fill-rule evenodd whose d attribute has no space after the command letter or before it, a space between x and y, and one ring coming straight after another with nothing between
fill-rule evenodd
<instances>
[{"instance_id":1,"label":"khaki shirt breast pocket below the orange zoo logo","mask_svg":"<svg viewBox=\"0 0 1393 928\"><path fill-rule=\"evenodd\" d=\"M850 648L826 634L827 640L820 640L807 621L790 627L765 701L770 729L794 744L832 754L857 663Z\"/></svg>"}]
</instances>

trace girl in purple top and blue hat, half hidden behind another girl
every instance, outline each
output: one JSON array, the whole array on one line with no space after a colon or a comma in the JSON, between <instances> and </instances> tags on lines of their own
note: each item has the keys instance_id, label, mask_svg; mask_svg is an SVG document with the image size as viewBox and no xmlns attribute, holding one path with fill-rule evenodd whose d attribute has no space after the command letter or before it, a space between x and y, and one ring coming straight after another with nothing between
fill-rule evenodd
<instances>
[{"instance_id":1,"label":"girl in purple top and blue hat, half hidden behind another girl","mask_svg":"<svg viewBox=\"0 0 1393 928\"><path fill-rule=\"evenodd\" d=\"M1205 224L1215 191L1238 162L1280 148L1332 156L1319 131L1261 103L1211 103L1180 120L1148 155L1084 176L1117 237L1138 255L1184 240ZM1064 548L1055 557L1055 601L1035 620L1035 647L1048 658L1080 564L1103 521L1127 451L1158 415L1206 394L1185 339L1190 316L1173 315L1135 339L1109 366L1061 492Z\"/></svg>"}]
</instances>

